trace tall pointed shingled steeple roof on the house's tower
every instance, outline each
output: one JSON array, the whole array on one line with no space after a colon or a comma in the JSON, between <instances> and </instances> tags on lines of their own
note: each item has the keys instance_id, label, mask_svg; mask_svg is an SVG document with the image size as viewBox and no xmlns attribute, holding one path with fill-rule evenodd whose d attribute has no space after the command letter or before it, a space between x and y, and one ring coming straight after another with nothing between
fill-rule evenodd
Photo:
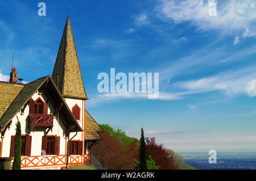
<instances>
[{"instance_id":1,"label":"tall pointed shingled steeple roof on the house's tower","mask_svg":"<svg viewBox=\"0 0 256 181\"><path fill-rule=\"evenodd\" d=\"M52 78L65 98L88 99L69 16L67 18Z\"/></svg>"}]
</instances>

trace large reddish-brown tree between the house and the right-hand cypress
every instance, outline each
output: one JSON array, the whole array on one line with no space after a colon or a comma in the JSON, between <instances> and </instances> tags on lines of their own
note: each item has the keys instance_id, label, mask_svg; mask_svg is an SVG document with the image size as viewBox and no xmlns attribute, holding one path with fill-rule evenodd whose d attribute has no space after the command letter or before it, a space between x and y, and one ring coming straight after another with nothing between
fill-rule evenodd
<instances>
[{"instance_id":1,"label":"large reddish-brown tree between the house and the right-hand cypress","mask_svg":"<svg viewBox=\"0 0 256 181\"><path fill-rule=\"evenodd\" d=\"M124 145L118 136L110 136L109 132L101 133L103 141L92 147L92 154L106 169L126 170L134 169L133 155L123 153Z\"/></svg>"}]
</instances>

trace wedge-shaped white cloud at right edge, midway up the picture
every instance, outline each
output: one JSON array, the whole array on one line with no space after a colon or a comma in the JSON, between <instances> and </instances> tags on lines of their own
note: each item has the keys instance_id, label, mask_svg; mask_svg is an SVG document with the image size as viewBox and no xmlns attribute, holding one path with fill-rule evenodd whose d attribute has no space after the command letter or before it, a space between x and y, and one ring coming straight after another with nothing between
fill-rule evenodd
<instances>
[{"instance_id":1,"label":"wedge-shaped white cloud at right edge, midway up the picture","mask_svg":"<svg viewBox=\"0 0 256 181\"><path fill-rule=\"evenodd\" d=\"M212 77L175 83L176 87L197 93L209 91L224 91L226 95L247 94L256 95L256 70L246 68L225 71Z\"/></svg>"}]
</instances>

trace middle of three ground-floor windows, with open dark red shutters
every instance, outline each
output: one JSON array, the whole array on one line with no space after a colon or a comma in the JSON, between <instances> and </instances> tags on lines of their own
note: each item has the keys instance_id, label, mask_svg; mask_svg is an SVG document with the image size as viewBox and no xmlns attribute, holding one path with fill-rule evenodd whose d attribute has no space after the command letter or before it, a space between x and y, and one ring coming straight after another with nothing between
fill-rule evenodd
<instances>
[{"instance_id":1,"label":"middle of three ground-floor windows, with open dark red shutters","mask_svg":"<svg viewBox=\"0 0 256 181\"><path fill-rule=\"evenodd\" d=\"M60 137L43 136L42 138L42 155L59 155L60 154Z\"/></svg>"}]
</instances>

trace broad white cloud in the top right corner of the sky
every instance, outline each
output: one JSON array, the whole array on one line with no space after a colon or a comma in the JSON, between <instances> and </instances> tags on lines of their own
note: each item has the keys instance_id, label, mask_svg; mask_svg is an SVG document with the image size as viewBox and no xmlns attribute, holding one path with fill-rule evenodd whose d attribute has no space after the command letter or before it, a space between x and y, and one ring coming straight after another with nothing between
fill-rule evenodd
<instances>
[{"instance_id":1,"label":"broad white cloud in the top right corner of the sky","mask_svg":"<svg viewBox=\"0 0 256 181\"><path fill-rule=\"evenodd\" d=\"M216 9L212 4L216 3ZM216 16L211 15L216 10ZM233 30L245 30L256 19L253 1L174 1L162 0L156 7L163 19L172 19L175 23L191 22L201 30L222 30L232 33Z\"/></svg>"}]
</instances>

